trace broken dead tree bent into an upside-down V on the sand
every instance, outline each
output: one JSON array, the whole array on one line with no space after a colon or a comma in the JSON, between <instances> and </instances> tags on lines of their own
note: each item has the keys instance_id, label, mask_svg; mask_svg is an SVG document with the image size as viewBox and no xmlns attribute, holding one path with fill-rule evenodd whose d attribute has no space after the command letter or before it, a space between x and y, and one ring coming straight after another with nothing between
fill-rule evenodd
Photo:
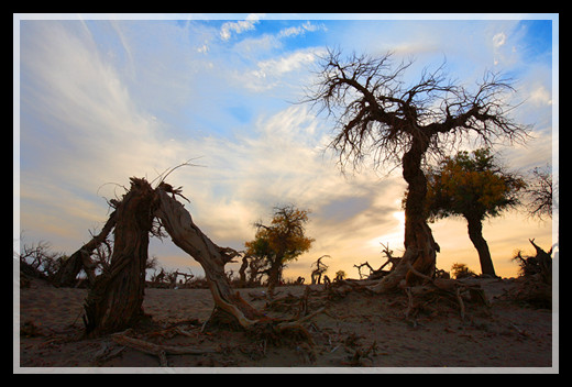
<instances>
[{"instance_id":1,"label":"broken dead tree bent into an upside-down V on the sand","mask_svg":"<svg viewBox=\"0 0 572 387\"><path fill-rule=\"evenodd\" d=\"M232 289L224 272L226 264L239 253L217 245L195 224L190 213L177 200L177 196L185 198L182 187L174 188L166 184L165 177L155 187L144 178L131 177L131 187L122 198L109 201L114 210L103 230L79 250L75 262L78 266L81 265L81 256L88 256L110 233L113 234L110 264L94 279L85 300L82 319L86 335L94 338L119 332L148 319L143 310L143 298L150 236L166 236L166 232L205 270L215 301L206 327L224 324L271 336L287 332L287 336L308 338L301 322L321 310L298 320L272 319L242 299ZM68 278L74 270L75 265L63 267L62 278Z\"/></svg>"}]
</instances>

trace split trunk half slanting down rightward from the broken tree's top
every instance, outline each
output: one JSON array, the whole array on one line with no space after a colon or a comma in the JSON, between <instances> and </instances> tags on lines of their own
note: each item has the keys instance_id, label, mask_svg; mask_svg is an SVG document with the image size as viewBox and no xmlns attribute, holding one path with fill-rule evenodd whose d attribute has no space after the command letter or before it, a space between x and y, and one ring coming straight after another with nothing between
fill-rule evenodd
<instances>
[{"instance_id":1,"label":"split trunk half slanting down rightward from the broken tree's top","mask_svg":"<svg viewBox=\"0 0 572 387\"><path fill-rule=\"evenodd\" d=\"M224 265L232 257L200 231L182 203L169 197L161 187L155 191L157 196L155 215L161 219L173 242L193 256L205 270L215 299L215 310L208 321L209 324L228 322L238 323L243 328L254 324L256 322L254 319L261 317L260 312L238 292L232 291L229 278L224 274Z\"/></svg>"}]
</instances>

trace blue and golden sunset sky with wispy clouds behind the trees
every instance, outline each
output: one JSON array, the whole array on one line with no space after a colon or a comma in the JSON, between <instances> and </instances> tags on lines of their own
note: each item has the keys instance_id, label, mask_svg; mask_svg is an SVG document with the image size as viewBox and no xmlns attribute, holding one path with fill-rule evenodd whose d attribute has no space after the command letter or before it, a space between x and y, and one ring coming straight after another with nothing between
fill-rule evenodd
<instances>
[{"instance_id":1,"label":"blue and golden sunset sky with wispy clouds behind the trees","mask_svg":"<svg viewBox=\"0 0 572 387\"><path fill-rule=\"evenodd\" d=\"M558 14L14 14L14 251L50 242L72 254L101 230L132 176L183 186L195 223L237 250L274 206L309 209L312 248L288 264L306 277L321 255L330 277L381 266L381 243L404 251L399 166L342 174L333 123L300 103L327 48L414 59L404 81L446 63L471 87L485 71L514 79L526 144L495 147L514 170L558 175ZM470 145L468 150L470 150ZM437 267L481 272L463 219L430 224ZM528 239L550 248L558 217L522 211L484 222L497 275L516 276ZM152 239L166 268L204 272L170 240ZM228 269L238 272L238 264Z\"/></svg>"}]
</instances>

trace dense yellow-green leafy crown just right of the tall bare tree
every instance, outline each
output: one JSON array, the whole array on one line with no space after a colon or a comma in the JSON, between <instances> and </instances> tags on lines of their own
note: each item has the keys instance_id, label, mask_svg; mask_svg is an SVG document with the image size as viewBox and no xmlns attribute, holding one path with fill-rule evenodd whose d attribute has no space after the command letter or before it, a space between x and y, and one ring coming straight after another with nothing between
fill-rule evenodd
<instances>
[{"instance_id":1,"label":"dense yellow-green leafy crown just right of the tall bare tree","mask_svg":"<svg viewBox=\"0 0 572 387\"><path fill-rule=\"evenodd\" d=\"M502 167L487 148L459 152L427 174L427 214L430 221L450 215L483 220L520 203L526 187Z\"/></svg>"}]
</instances>

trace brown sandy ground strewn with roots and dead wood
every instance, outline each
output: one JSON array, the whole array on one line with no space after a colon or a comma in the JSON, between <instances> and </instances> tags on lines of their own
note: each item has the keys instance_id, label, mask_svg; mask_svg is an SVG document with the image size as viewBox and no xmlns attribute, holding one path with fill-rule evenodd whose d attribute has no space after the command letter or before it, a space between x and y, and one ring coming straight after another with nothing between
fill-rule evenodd
<instances>
[{"instance_id":1,"label":"brown sandy ground strewn with roots and dead wood","mask_svg":"<svg viewBox=\"0 0 572 387\"><path fill-rule=\"evenodd\" d=\"M129 336L213 351L167 353L167 368L160 368L160 357L120 345L111 336L80 338L86 289L54 288L33 280L30 288L20 289L20 303L14 306L14 372L475 372L474 367L485 367L480 372L557 373L558 345L553 349L553 343L558 343L558 331L554 338L552 320L558 313L509 300L506 296L518 280L473 281L485 290L490 308L468 303L464 320L454 302L426 302L416 316L406 318L405 294L354 291L327 299L317 291L321 286L312 286L309 311L326 307L326 312L305 324L311 344L272 343L229 330L201 332L213 307L208 289L146 289L143 307L153 317L153 329L135 329ZM239 291L268 316L296 312L297 302L292 309L264 309L266 301L252 297L263 290ZM292 295L296 301L305 286L277 290L277 298Z\"/></svg>"}]
</instances>

